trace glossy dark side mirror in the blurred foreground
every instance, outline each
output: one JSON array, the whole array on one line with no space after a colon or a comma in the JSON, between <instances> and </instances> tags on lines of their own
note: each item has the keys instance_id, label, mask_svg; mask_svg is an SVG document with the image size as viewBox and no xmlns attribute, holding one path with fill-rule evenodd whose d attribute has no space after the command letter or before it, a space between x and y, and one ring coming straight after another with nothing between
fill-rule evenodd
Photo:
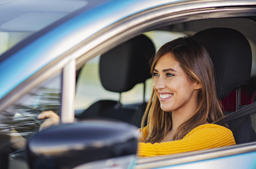
<instances>
[{"instance_id":1,"label":"glossy dark side mirror in the blurred foreground","mask_svg":"<svg viewBox=\"0 0 256 169\"><path fill-rule=\"evenodd\" d=\"M32 169L67 169L86 164L93 168L95 161L97 165L106 165L101 168L111 167L107 165L118 165L115 159L120 157L121 161L135 159L137 137L137 128L122 122L88 120L60 124L38 132L28 141L28 162Z\"/></svg>"}]
</instances>

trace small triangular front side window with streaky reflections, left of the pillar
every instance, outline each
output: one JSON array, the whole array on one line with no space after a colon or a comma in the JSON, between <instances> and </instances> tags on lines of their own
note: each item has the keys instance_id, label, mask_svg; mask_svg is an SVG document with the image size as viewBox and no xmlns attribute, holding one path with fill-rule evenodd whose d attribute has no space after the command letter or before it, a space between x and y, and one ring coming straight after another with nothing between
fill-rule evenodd
<instances>
[{"instance_id":1,"label":"small triangular front side window with streaky reflections, left of the pillar","mask_svg":"<svg viewBox=\"0 0 256 169\"><path fill-rule=\"evenodd\" d=\"M8 138L14 152L24 148L26 141L39 131L44 121L38 120L37 116L47 110L60 112L60 98L61 73L58 73L0 113L0 142Z\"/></svg>"}]
</instances>

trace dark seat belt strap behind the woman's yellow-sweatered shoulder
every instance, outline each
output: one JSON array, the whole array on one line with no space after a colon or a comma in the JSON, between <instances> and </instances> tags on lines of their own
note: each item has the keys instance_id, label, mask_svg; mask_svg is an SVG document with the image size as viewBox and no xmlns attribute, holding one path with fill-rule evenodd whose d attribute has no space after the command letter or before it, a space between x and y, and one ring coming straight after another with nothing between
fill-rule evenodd
<instances>
[{"instance_id":1,"label":"dark seat belt strap behind the woman's yellow-sweatered shoulder","mask_svg":"<svg viewBox=\"0 0 256 169\"><path fill-rule=\"evenodd\" d=\"M254 113L256 113L256 102L254 102L250 105L247 105L235 112L232 112L229 115L226 115L225 117L221 118L220 120L213 122L213 124L219 125L221 123L226 123L226 122L229 122L229 121L237 119L237 118L246 117L246 116L252 115Z\"/></svg>"}]
</instances>

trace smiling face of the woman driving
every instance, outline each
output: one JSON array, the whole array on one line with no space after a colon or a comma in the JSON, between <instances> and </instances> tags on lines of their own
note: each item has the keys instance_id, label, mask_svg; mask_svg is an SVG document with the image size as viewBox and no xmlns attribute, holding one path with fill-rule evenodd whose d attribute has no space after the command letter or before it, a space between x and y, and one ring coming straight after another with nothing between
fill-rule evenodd
<instances>
[{"instance_id":1,"label":"smiling face of the woman driving","mask_svg":"<svg viewBox=\"0 0 256 169\"><path fill-rule=\"evenodd\" d=\"M189 80L179 62L170 53L157 60L153 76L153 88L162 110L186 111L198 106L198 89L201 85Z\"/></svg>"}]
</instances>

